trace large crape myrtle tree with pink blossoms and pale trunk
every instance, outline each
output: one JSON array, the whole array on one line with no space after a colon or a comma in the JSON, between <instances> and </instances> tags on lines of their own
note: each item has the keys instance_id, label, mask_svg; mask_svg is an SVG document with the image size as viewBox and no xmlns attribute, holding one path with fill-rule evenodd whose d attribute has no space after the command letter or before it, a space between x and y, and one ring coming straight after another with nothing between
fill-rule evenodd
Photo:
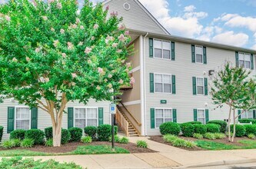
<instances>
[{"instance_id":1,"label":"large crape myrtle tree with pink blossoms and pale trunk","mask_svg":"<svg viewBox=\"0 0 256 169\"><path fill-rule=\"evenodd\" d=\"M75 0L16 0L0 5L2 94L38 107L52 118L54 146L60 146L68 101L112 101L133 83L125 63L132 51L121 18L101 4L78 12ZM115 92L114 92L115 91Z\"/></svg>"}]
</instances>

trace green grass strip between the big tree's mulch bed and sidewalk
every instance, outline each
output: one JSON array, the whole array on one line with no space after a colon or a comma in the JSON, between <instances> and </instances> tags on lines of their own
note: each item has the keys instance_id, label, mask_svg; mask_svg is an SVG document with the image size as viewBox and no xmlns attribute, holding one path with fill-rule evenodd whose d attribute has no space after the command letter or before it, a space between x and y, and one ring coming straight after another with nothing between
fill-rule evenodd
<instances>
[{"instance_id":1,"label":"green grass strip between the big tree's mulch bed and sidewalk","mask_svg":"<svg viewBox=\"0 0 256 169\"><path fill-rule=\"evenodd\" d=\"M44 153L38 151L28 151L28 150L6 150L0 151L0 157L15 157L15 156L52 156L52 155L78 155L78 154L128 154L128 150L115 147L115 151L112 151L111 146L108 145L87 145L78 146L75 151L68 153Z\"/></svg>"}]
</instances>

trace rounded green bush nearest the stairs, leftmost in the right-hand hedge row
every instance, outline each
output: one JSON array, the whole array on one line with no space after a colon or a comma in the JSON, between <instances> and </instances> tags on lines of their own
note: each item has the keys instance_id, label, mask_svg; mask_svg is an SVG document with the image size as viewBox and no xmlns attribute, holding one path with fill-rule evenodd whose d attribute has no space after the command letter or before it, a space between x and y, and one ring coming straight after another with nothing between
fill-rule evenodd
<instances>
[{"instance_id":1,"label":"rounded green bush nearest the stairs, leftmost in the right-hand hedge row","mask_svg":"<svg viewBox=\"0 0 256 169\"><path fill-rule=\"evenodd\" d=\"M177 123L173 123L173 122L163 123L160 125L159 129L162 135L165 135L165 134L178 135L181 132L180 126Z\"/></svg>"}]
</instances>

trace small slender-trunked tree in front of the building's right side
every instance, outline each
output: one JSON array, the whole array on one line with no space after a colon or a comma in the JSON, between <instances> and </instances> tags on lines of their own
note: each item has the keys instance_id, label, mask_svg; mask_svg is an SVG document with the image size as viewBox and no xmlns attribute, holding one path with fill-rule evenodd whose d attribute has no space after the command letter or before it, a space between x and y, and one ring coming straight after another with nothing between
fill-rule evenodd
<instances>
[{"instance_id":1,"label":"small slender-trunked tree in front of the building's right side","mask_svg":"<svg viewBox=\"0 0 256 169\"><path fill-rule=\"evenodd\" d=\"M221 108L223 104L227 104L229 107L228 140L232 142L234 141L235 135L235 121L236 118L238 118L238 116L235 115L235 110L248 110L248 108L254 108L254 104L251 104L251 102L253 102L251 99L255 94L255 91L253 91L255 85L252 79L248 80L248 75L250 73L250 71L247 71L244 68L232 67L231 63L228 62L224 65L223 70L218 71L212 81L211 96L214 104L217 104L218 108ZM231 138L230 127L232 112L234 133ZM242 113L244 113L244 111L242 111Z\"/></svg>"}]
</instances>

